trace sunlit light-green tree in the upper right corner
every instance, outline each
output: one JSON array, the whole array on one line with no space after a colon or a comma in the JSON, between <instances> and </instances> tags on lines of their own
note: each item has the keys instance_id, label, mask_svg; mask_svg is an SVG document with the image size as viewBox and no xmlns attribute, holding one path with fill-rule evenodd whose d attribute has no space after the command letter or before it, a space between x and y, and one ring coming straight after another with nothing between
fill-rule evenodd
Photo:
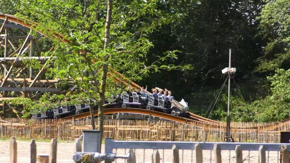
<instances>
[{"instance_id":1,"label":"sunlit light-green tree in the upper right corner","mask_svg":"<svg viewBox=\"0 0 290 163\"><path fill-rule=\"evenodd\" d=\"M258 59L257 72L273 73L276 68L289 69L290 62L290 2L288 0L267 1L263 6L260 36L265 42L264 55Z\"/></svg>"}]
</instances>

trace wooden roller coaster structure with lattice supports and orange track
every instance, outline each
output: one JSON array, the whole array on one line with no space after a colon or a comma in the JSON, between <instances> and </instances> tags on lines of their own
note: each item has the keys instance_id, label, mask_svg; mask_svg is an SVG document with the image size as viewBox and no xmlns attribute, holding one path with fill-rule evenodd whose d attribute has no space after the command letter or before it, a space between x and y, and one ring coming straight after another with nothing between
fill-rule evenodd
<instances>
[{"instance_id":1,"label":"wooden roller coaster structure with lattice supports and orange track","mask_svg":"<svg viewBox=\"0 0 290 163\"><path fill-rule=\"evenodd\" d=\"M52 51L54 46L51 46L47 49L40 46L39 39L41 37L48 38L48 36L44 35L41 31L37 31L37 36L31 35L30 28L34 25L37 25L36 22L22 20L8 14L0 14L0 23L0 47L1 49L4 48L4 52L1 50L0 57L0 101L14 98L9 95L11 92L14 92L14 94L22 94L24 97L37 99L44 92L57 92L58 94L65 94L66 92L70 91L70 89L59 90L58 88L55 88L55 83L60 82L60 79L46 79L43 75L43 73L46 71L45 66L47 65L47 61L51 58L47 56L41 56L41 52ZM58 38L61 42L69 42L68 40L64 39L63 35L56 32L53 36ZM43 64L43 68L38 72L33 72L31 67L26 68L23 62L24 59L37 59L41 62L41 64ZM118 74L118 76L126 80L126 78L117 71L108 72L108 76L113 74ZM129 84L131 88L141 88L136 83L129 80L123 81L123 79L115 77L114 81ZM33 95L32 92L34 93ZM0 103L0 106L3 106L4 114L4 105ZM191 118L187 119L166 113L136 108L105 109L105 114L118 112L140 113L148 115L151 114L156 117L178 122L199 121L217 125L226 125L225 123L201 117L193 113L190 113ZM97 115L97 111L95 111L94 114ZM81 113L71 117L65 117L63 119L80 119L88 116L89 112ZM283 121L283 123L289 122L290 119Z\"/></svg>"}]
</instances>

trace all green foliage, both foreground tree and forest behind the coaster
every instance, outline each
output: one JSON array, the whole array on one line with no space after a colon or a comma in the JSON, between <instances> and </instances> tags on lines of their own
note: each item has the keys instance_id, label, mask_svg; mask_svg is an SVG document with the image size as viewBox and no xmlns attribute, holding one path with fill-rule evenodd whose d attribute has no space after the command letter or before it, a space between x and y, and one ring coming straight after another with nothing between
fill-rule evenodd
<instances>
[{"instance_id":1,"label":"all green foliage, both foreground tree and forest behind the coaster","mask_svg":"<svg viewBox=\"0 0 290 163\"><path fill-rule=\"evenodd\" d=\"M76 93L65 96L72 103L79 102L74 101L79 97L100 97L101 70L109 65L109 71L120 72L128 81L169 89L175 99L185 99L192 112L208 117L205 113L224 81L221 69L227 67L231 48L232 67L238 70L234 79L245 99L233 84L232 120L266 122L289 117L288 0L114 0L111 40L105 50L105 1L16 0L1 1L1 5L6 7L0 12L37 21L36 30L52 39L40 40L43 51L55 46L41 55L58 58L48 64L53 68L47 69L45 78L62 79L56 86L64 89L71 86L66 79L72 79ZM54 38L55 31L69 43ZM24 64L40 68L36 60ZM125 83L116 85L114 78L125 81L121 75L108 75L106 98L127 88ZM35 105L43 108L65 97L44 94ZM35 101L25 102L27 110L37 110L29 102ZM22 114L20 107L14 110ZM223 90L210 118L225 121L226 117L227 91Z\"/></svg>"}]
</instances>

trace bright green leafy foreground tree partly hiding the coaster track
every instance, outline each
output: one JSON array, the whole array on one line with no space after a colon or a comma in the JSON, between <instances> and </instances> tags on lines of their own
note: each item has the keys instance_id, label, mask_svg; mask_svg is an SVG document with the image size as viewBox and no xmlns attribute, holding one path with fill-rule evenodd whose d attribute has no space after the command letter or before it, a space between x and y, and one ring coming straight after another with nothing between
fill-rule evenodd
<instances>
[{"instance_id":1,"label":"bright green leafy foreground tree partly hiding the coaster track","mask_svg":"<svg viewBox=\"0 0 290 163\"><path fill-rule=\"evenodd\" d=\"M54 50L47 54L57 57L47 77L73 80L89 98L90 106L92 100L97 100L98 128L102 130L103 109L107 105L104 101L112 92L120 95L130 81L138 81L158 69L184 68L162 64L164 60L177 59L174 50L147 62L147 53L153 46L148 34L166 23L166 14L157 10L156 2L21 0L16 15L38 22L35 30L50 38L54 31L63 34L65 42L53 39ZM90 111L94 124L92 107Z\"/></svg>"}]
</instances>

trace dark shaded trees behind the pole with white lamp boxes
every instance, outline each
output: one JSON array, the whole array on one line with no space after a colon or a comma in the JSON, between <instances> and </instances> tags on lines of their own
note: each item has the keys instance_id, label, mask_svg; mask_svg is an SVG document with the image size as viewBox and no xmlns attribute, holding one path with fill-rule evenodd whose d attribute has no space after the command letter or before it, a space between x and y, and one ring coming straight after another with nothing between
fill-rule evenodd
<instances>
[{"instance_id":1,"label":"dark shaded trees behind the pole with white lamp boxes","mask_svg":"<svg viewBox=\"0 0 290 163\"><path fill-rule=\"evenodd\" d=\"M263 96L260 84L265 78L254 74L257 58L263 55L258 34L259 16L263 1L167 0L159 8L171 13L170 22L150 34L155 45L152 55L166 50L179 50L176 64L191 64L194 69L162 70L141 83L167 88L176 99L185 99L198 113L206 111L225 77L221 70L228 65L229 48L232 66L238 72L234 79L242 88L245 100ZM166 62L165 64L171 64ZM204 112L205 113L205 112Z\"/></svg>"}]
</instances>

